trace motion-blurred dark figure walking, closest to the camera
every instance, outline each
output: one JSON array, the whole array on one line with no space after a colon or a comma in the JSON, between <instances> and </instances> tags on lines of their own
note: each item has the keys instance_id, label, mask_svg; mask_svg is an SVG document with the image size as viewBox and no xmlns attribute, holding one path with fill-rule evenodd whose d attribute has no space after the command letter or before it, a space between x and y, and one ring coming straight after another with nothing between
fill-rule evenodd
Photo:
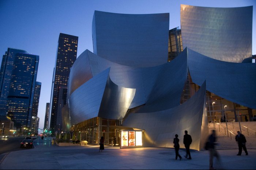
<instances>
[{"instance_id":1,"label":"motion-blurred dark figure walking, closest to the camera","mask_svg":"<svg viewBox=\"0 0 256 170\"><path fill-rule=\"evenodd\" d=\"M219 154L215 149L215 145L217 145L216 141L217 141L217 138L216 138L216 135L215 135L215 130L212 130L212 134L208 137L208 144L207 144L207 149L210 153L210 168L209 168L210 170L215 169L213 167L213 157L214 156L220 162Z\"/></svg>"}]
</instances>

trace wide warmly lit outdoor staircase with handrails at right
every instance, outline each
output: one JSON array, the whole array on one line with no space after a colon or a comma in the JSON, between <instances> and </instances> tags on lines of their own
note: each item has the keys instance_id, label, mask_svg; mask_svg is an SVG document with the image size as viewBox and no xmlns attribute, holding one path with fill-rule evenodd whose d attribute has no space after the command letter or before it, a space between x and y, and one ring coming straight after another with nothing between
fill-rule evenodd
<instances>
[{"instance_id":1,"label":"wide warmly lit outdoor staircase with handrails at right","mask_svg":"<svg viewBox=\"0 0 256 170\"><path fill-rule=\"evenodd\" d=\"M247 128L245 128L245 127ZM238 122L227 122L227 127L229 130L229 137L227 136L226 123L215 123L215 131L217 135L218 146L217 150L228 150L228 149L238 149L236 143L237 131L240 131L240 126ZM209 134L214 129L213 123L209 125ZM242 134L246 137L247 149L256 149L256 122L241 122Z\"/></svg>"}]
</instances>

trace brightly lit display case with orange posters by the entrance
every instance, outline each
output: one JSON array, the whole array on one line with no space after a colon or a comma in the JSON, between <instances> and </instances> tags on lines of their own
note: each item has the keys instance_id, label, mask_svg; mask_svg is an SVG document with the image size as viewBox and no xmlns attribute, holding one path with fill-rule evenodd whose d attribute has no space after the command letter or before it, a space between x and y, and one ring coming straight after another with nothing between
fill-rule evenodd
<instances>
[{"instance_id":1,"label":"brightly lit display case with orange posters by the entrance","mask_svg":"<svg viewBox=\"0 0 256 170\"><path fill-rule=\"evenodd\" d=\"M121 131L120 148L138 148L142 146L142 131Z\"/></svg>"}]
</instances>

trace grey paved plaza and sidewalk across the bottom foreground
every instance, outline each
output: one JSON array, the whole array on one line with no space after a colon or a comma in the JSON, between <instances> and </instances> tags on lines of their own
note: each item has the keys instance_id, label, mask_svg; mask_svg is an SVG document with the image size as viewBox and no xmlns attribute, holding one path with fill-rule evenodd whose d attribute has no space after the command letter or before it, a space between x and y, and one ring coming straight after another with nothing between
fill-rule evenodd
<instances>
[{"instance_id":1,"label":"grey paved plaza and sidewalk across the bottom foreground","mask_svg":"<svg viewBox=\"0 0 256 170\"><path fill-rule=\"evenodd\" d=\"M209 169L208 151L191 152L192 160L174 160L174 149L118 149L99 146L52 146L50 138L35 140L35 148L10 152L0 169ZM220 150L222 163L217 169L256 169L256 150L249 156L236 156L238 150ZM180 150L185 155L184 150Z\"/></svg>"}]
</instances>

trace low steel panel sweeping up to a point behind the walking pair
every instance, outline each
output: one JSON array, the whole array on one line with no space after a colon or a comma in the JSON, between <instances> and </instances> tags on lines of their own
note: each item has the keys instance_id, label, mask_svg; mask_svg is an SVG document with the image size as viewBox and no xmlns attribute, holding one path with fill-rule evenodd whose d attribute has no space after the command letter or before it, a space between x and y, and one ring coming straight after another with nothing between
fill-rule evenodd
<instances>
[{"instance_id":1,"label":"low steel panel sweeping up to a point behind the walking pair","mask_svg":"<svg viewBox=\"0 0 256 170\"><path fill-rule=\"evenodd\" d=\"M208 136L205 94L204 83L182 105L160 112L131 113L122 125L145 130L143 147L173 147L175 134L182 141L184 131L187 130L193 139L191 149L200 150ZM184 148L183 144L180 146Z\"/></svg>"}]
</instances>

